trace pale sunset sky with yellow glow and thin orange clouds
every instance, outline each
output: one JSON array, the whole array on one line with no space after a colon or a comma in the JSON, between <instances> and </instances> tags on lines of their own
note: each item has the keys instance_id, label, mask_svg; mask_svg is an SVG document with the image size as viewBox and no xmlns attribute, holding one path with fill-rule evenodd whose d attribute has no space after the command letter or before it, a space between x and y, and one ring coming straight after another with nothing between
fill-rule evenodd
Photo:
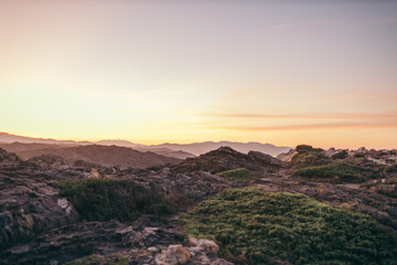
<instances>
[{"instance_id":1,"label":"pale sunset sky with yellow glow and thin orange clouds","mask_svg":"<svg viewBox=\"0 0 397 265\"><path fill-rule=\"evenodd\" d=\"M0 131L397 148L397 1L0 0Z\"/></svg>"}]
</instances>

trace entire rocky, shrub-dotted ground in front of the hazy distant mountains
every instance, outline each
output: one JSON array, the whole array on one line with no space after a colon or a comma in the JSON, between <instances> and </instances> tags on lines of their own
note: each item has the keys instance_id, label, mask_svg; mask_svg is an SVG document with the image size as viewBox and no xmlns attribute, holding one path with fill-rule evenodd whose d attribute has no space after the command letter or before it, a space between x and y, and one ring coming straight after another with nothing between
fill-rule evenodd
<instances>
[{"instance_id":1,"label":"entire rocky, shrub-dotted ground in front of the hazy distant mountains","mask_svg":"<svg viewBox=\"0 0 397 265\"><path fill-rule=\"evenodd\" d=\"M0 149L0 264L397 261L396 150L221 147L150 168L108 167L109 150L126 156Z\"/></svg>"}]
</instances>

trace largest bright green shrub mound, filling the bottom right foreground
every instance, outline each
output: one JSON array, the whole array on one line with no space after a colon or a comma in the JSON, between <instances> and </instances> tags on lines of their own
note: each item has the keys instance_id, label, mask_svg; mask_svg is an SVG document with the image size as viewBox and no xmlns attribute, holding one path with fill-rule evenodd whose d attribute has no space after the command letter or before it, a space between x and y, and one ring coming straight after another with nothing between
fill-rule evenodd
<instances>
[{"instance_id":1,"label":"largest bright green shrub mound, filling the bottom right foreground","mask_svg":"<svg viewBox=\"0 0 397 265\"><path fill-rule=\"evenodd\" d=\"M363 213L302 194L228 190L180 219L237 264L396 264L397 233ZM285 263L283 263L285 264Z\"/></svg>"}]
</instances>

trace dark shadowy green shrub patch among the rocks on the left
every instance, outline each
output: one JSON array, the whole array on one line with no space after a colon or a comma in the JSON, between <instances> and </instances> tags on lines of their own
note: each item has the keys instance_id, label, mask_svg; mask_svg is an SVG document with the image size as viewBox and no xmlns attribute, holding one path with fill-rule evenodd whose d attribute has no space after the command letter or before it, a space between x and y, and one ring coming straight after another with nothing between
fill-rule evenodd
<instances>
[{"instance_id":1,"label":"dark shadowy green shrub patch among the rocks on the left","mask_svg":"<svg viewBox=\"0 0 397 265\"><path fill-rule=\"evenodd\" d=\"M141 213L171 213L175 201L164 201L157 192L136 186L130 179L67 180L55 184L88 221L135 220Z\"/></svg>"}]
</instances>

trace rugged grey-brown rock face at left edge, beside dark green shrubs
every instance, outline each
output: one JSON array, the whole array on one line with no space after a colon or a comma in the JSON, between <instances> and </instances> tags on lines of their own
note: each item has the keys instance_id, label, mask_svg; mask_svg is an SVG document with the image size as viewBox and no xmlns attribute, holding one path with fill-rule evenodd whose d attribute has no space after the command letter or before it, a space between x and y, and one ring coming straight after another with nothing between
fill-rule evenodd
<instances>
[{"instance_id":1,"label":"rugged grey-brown rock face at left edge, beside dark green shrubs","mask_svg":"<svg viewBox=\"0 0 397 265\"><path fill-rule=\"evenodd\" d=\"M0 151L8 165L0 167L0 250L78 221L67 199L46 183L49 176Z\"/></svg>"}]
</instances>

